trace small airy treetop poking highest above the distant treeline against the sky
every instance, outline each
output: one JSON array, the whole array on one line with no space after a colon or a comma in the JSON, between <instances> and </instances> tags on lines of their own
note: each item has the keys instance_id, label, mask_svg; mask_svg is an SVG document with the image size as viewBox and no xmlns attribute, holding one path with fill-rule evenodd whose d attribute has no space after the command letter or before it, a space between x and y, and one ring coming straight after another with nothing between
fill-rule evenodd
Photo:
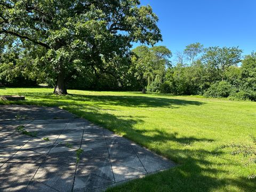
<instances>
[{"instance_id":1,"label":"small airy treetop poking highest above the distant treeline against the sky","mask_svg":"<svg viewBox=\"0 0 256 192\"><path fill-rule=\"evenodd\" d=\"M202 45L201 43L192 43L186 46L184 54L190 61L190 65L193 65L196 56L203 52L203 47L204 45Z\"/></svg>"}]
</instances>

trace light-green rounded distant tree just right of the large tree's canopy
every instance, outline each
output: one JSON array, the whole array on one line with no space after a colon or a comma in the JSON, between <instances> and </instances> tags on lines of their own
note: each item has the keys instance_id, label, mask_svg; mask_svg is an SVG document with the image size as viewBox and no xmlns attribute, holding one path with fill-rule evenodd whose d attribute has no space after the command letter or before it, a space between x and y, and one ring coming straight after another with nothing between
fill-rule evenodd
<instances>
[{"instance_id":1,"label":"light-green rounded distant tree just right of the large tree's canopy","mask_svg":"<svg viewBox=\"0 0 256 192\"><path fill-rule=\"evenodd\" d=\"M166 67L171 66L172 52L165 46L138 46L132 50L135 54L134 63L138 80L141 82L142 92L145 93L147 84L153 81L162 82Z\"/></svg>"}]
</instances>

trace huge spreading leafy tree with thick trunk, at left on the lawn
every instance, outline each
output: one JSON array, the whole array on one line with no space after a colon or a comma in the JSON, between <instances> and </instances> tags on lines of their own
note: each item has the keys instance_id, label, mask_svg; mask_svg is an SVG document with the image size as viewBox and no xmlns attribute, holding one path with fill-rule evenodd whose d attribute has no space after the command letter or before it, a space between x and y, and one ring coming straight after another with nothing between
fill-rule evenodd
<instances>
[{"instance_id":1,"label":"huge spreading leafy tree with thick trunk, at left on the lawn","mask_svg":"<svg viewBox=\"0 0 256 192\"><path fill-rule=\"evenodd\" d=\"M131 42L161 40L157 21L138 0L0 0L1 57L19 55L1 68L52 79L54 93L67 94L66 83L79 71L106 73L105 63L127 57Z\"/></svg>"}]
</instances>

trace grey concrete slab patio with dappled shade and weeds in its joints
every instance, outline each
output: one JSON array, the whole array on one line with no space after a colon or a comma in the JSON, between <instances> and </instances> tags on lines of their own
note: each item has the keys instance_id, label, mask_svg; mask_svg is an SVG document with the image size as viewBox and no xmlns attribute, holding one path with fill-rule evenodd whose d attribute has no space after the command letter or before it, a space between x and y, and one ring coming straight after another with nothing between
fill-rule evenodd
<instances>
[{"instance_id":1,"label":"grey concrete slab patio with dappled shade and weeds in its joints","mask_svg":"<svg viewBox=\"0 0 256 192\"><path fill-rule=\"evenodd\" d=\"M0 191L101 191L172 166L57 107L0 106Z\"/></svg>"}]
</instances>

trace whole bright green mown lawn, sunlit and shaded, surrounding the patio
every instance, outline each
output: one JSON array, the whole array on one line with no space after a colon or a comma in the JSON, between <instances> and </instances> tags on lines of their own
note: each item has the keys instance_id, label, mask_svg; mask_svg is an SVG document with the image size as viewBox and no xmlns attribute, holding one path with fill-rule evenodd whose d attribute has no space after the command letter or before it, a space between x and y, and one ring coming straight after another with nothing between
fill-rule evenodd
<instances>
[{"instance_id":1,"label":"whole bright green mown lawn, sunlit and shaded, surrounding the patio","mask_svg":"<svg viewBox=\"0 0 256 192\"><path fill-rule=\"evenodd\" d=\"M59 106L179 164L109 191L256 191L256 179L247 178L256 174L256 155L232 155L236 148L221 148L256 145L250 138L256 137L256 102L77 90L57 96L52 91L6 88L0 95L21 94L27 100L18 103Z\"/></svg>"}]
</instances>

